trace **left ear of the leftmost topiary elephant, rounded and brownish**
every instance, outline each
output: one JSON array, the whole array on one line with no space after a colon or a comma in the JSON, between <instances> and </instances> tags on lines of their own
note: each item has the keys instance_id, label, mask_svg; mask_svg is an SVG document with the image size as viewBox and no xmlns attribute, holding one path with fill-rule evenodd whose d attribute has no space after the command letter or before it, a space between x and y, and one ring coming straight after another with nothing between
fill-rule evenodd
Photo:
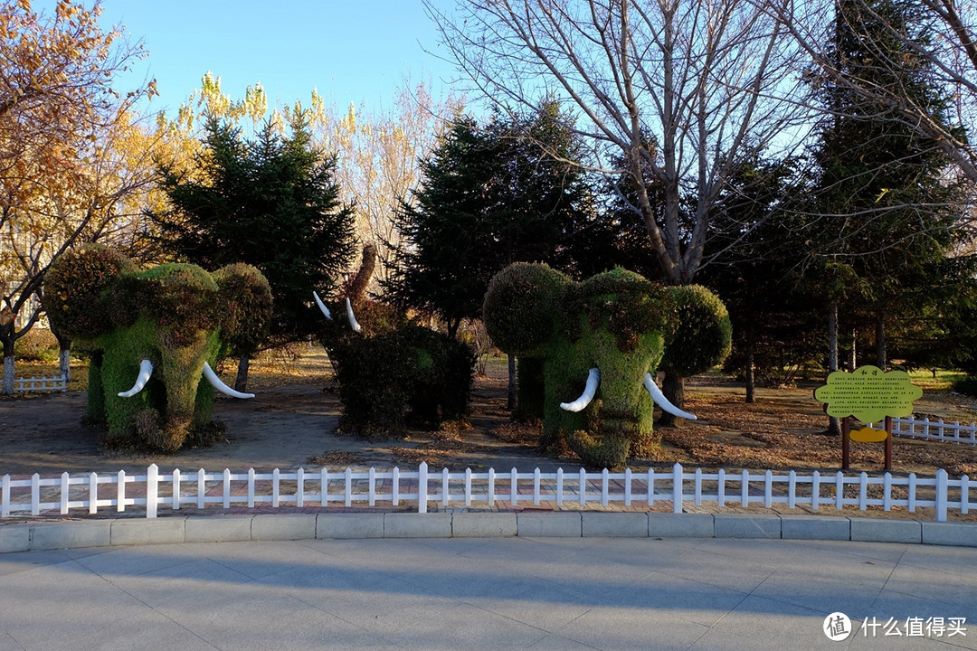
<instances>
[{"instance_id":1,"label":"left ear of the leftmost topiary elephant, rounded and brownish","mask_svg":"<svg viewBox=\"0 0 977 651\"><path fill-rule=\"evenodd\" d=\"M86 244L59 256L44 276L42 305L52 328L69 339L93 340L112 328L104 295L136 264L114 249Z\"/></svg>"}]
</instances>

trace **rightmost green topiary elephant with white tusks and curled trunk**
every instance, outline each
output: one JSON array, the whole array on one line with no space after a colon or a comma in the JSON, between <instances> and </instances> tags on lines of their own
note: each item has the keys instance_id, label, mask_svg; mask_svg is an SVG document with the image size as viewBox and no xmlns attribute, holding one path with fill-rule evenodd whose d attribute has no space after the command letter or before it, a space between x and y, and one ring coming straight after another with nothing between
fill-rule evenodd
<instances>
[{"instance_id":1,"label":"rightmost green topiary elephant with white tusks and curled trunk","mask_svg":"<svg viewBox=\"0 0 977 651\"><path fill-rule=\"evenodd\" d=\"M658 370L687 377L730 350L729 315L714 294L621 268L573 282L545 264L511 264L491 280L483 314L494 344L520 358L520 401L539 411L541 447L567 446L597 467L654 455L655 402L695 418L664 398Z\"/></svg>"}]
</instances>

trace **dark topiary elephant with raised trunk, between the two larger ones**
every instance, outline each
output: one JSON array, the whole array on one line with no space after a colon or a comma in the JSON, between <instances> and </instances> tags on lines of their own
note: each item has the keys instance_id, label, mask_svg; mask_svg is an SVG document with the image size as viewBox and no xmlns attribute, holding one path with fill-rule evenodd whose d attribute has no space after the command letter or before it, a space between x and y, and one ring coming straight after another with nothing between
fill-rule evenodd
<instances>
[{"instance_id":1,"label":"dark topiary elephant with raised trunk, between the two larger ones","mask_svg":"<svg viewBox=\"0 0 977 651\"><path fill-rule=\"evenodd\" d=\"M376 250L343 292L323 303L319 339L336 371L341 431L367 438L403 432L407 421L438 427L468 410L475 355L464 344L410 322L390 305L365 298Z\"/></svg>"}]
</instances>

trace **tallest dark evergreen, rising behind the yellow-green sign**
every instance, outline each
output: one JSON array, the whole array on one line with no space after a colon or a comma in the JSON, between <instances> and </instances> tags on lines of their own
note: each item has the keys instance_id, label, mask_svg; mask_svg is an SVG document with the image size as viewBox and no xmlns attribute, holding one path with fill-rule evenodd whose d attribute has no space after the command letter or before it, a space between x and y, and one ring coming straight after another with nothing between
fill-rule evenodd
<instances>
[{"instance_id":1,"label":"tallest dark evergreen, rising behind the yellow-green sign","mask_svg":"<svg viewBox=\"0 0 977 651\"><path fill-rule=\"evenodd\" d=\"M839 69L851 79L899 85L943 121L948 101L908 45L924 38L914 26L913 1L838 0L835 7ZM892 38L881 21L908 40ZM883 59L905 65L893 70ZM874 324L875 363L884 368L887 324L904 320L945 284L959 195L945 182L950 160L936 142L883 103L841 86L828 85L820 95L829 117L815 152L821 173L808 231L823 264L811 268L825 272L830 264L840 271L840 265L846 270L834 276L857 278L847 288L844 311ZM825 294L826 305L837 305L840 297Z\"/></svg>"}]
</instances>

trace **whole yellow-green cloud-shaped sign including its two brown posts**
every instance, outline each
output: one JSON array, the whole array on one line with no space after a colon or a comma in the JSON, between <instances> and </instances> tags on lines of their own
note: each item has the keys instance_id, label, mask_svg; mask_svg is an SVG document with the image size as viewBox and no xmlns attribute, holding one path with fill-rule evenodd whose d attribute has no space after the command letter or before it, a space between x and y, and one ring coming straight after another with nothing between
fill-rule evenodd
<instances>
[{"instance_id":1,"label":"whole yellow-green cloud-shaped sign including its two brown posts","mask_svg":"<svg viewBox=\"0 0 977 651\"><path fill-rule=\"evenodd\" d=\"M842 419L841 468L851 462L851 441L871 443L885 441L885 469L892 469L892 419L913 414L913 400L922 397L922 389L913 385L905 371L882 371L876 366L862 366L853 373L835 371L828 384L819 387L814 397L828 405L828 416ZM867 427L852 431L851 418ZM868 427L884 421L885 429Z\"/></svg>"}]
</instances>

